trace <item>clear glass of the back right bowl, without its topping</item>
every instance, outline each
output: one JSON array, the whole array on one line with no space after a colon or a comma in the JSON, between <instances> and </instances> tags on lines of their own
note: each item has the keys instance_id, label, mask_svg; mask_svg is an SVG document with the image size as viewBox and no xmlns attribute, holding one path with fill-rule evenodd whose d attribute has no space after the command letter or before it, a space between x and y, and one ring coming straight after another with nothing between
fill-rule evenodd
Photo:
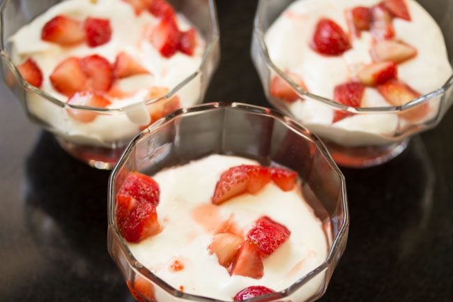
<instances>
[{"instance_id":1,"label":"clear glass of the back right bowl, without its topping","mask_svg":"<svg viewBox=\"0 0 453 302\"><path fill-rule=\"evenodd\" d=\"M307 128L319 135L328 147L332 158L338 165L345 167L370 167L380 165L387 160L398 156L408 145L410 137L425 130L435 127L452 105L453 101L453 75L438 89L431 91L410 103L401 106L387 107L348 107L340 103L305 91L293 82L284 70L279 69L270 59L268 46L264 36L272 23L295 0L260 0L254 20L252 38L252 60L259 73L263 89L269 102L285 114L302 122ZM449 60L453 64L453 19L450 12L453 1L417 0L434 17L443 31L447 50L450 50ZM429 77L429 75L427 75ZM360 114L367 119L382 120L385 116L392 116L396 121L394 130L390 133L371 130L369 128L346 129L338 128L334 123L320 124L299 119L284 100L272 96L270 84L272 80L281 80L288 89L297 93L298 98L313 100L319 105L330 108L333 112ZM411 119L417 112L426 111L429 114L422 119ZM318 113L314 113L318 114ZM340 131L341 130L341 133ZM352 141L355 143L351 143Z\"/></svg>"}]
</instances>

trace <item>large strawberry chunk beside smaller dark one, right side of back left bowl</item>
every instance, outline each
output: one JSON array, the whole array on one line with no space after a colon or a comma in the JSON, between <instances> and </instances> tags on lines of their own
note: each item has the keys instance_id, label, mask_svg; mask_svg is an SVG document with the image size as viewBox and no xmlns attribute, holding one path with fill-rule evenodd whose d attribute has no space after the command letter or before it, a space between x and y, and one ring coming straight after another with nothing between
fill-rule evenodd
<instances>
[{"instance_id":1,"label":"large strawberry chunk beside smaller dark one, right side of back left bowl","mask_svg":"<svg viewBox=\"0 0 453 302\"><path fill-rule=\"evenodd\" d=\"M162 19L151 29L149 40L162 56L169 58L178 50L180 36L174 19Z\"/></svg>"}]
</instances>

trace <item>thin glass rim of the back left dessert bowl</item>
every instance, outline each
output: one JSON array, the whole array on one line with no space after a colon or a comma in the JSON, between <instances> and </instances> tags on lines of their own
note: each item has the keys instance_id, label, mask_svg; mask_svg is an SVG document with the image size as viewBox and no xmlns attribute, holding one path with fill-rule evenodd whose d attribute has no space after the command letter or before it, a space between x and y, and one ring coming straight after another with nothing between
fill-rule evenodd
<instances>
[{"instance_id":1,"label":"thin glass rim of the back left dessert bowl","mask_svg":"<svg viewBox=\"0 0 453 302\"><path fill-rule=\"evenodd\" d=\"M217 18L217 8L215 6L215 0L207 0L208 5L209 5L209 16L210 16L210 22L212 25L212 36L211 38L206 41L208 42L206 44L206 47L203 52L203 56L201 58L201 63L197 67L197 70L195 70L193 73L185 77L184 80L173 86L170 91L165 94L164 96L160 96L158 98L150 98L148 100L142 100L137 103L133 103L130 105L125 105L123 107L117 107L117 108L105 108L105 107L90 107L90 106L84 106L84 105L73 105L73 104L68 104L64 102L63 100L59 100L55 98L54 96L51 96L49 93L45 92L43 89L40 89L36 86L33 86L29 84L29 82L26 82L22 75L20 75L19 70L17 70L17 67L15 66L15 63L13 63L13 60L10 58L10 55L6 51L6 47L3 43L3 38L4 38L4 33L3 33L3 13L4 10L6 9L6 6L8 6L8 3L10 3L11 0L0 0L0 57L3 59L4 62L8 65L8 70L11 71L13 76L15 77L16 80L19 81L20 85L22 86L22 89L26 89L29 91L32 91L33 93L37 94L38 96L41 96L42 98L45 98L46 100L49 100L50 102L54 103L55 105L58 105L59 107L62 108L70 108L70 109L75 109L75 110L81 110L81 111L89 111L89 112L97 112L97 113L104 113L104 114L120 114L124 112L128 112L128 110L134 110L137 105L151 105L153 103L158 103L159 100L162 100L164 98L170 99L172 98L178 91L180 91L186 84L188 84L194 77L197 77L200 73L202 73L202 70L208 63L208 59L210 56L213 54L213 51L215 50L215 46L220 40L220 33L219 33L219 23L218 23L218 18ZM217 63L216 63L217 64Z\"/></svg>"}]
</instances>

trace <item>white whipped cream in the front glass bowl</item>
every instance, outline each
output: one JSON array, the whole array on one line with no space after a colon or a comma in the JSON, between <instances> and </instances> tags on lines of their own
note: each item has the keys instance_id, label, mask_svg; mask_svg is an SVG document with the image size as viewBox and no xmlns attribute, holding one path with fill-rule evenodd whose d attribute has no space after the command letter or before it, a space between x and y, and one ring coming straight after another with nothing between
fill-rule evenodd
<instances>
[{"instance_id":1,"label":"white whipped cream in the front glass bowl","mask_svg":"<svg viewBox=\"0 0 453 302\"><path fill-rule=\"evenodd\" d=\"M254 160L212 155L187 165L164 169L153 176L160 186L158 219L160 234L140 243L128 243L132 255L172 287L184 292L231 301L240 290L263 285L280 291L319 266L327 257L328 243L323 225L298 189L289 192L269 183L256 195L240 195L215 206L210 198L220 175L237 165L258 165ZM194 218L205 213L206 219ZM210 255L213 222L233 217L247 233L261 216L282 223L291 236L272 255L263 259L263 278L256 280L229 275L227 269ZM212 225L211 225L212 226ZM185 269L171 271L175 259ZM324 274L307 282L297 301L305 301L322 285ZM156 292L158 294L158 292ZM156 297L159 298L159 297ZM159 300L159 299L158 299Z\"/></svg>"}]
</instances>

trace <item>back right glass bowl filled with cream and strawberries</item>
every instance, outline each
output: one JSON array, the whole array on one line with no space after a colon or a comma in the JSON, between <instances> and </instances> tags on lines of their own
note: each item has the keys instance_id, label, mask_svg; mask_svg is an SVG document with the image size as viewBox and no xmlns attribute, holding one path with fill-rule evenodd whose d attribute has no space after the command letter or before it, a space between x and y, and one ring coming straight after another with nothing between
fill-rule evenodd
<instances>
[{"instance_id":1,"label":"back right glass bowl filled with cream and strawberries","mask_svg":"<svg viewBox=\"0 0 453 302\"><path fill-rule=\"evenodd\" d=\"M431 1L314 2L259 1L252 59L266 96L319 135L337 164L385 163L452 103L453 22ZM357 11L368 18L359 29L349 17Z\"/></svg>"}]
</instances>

